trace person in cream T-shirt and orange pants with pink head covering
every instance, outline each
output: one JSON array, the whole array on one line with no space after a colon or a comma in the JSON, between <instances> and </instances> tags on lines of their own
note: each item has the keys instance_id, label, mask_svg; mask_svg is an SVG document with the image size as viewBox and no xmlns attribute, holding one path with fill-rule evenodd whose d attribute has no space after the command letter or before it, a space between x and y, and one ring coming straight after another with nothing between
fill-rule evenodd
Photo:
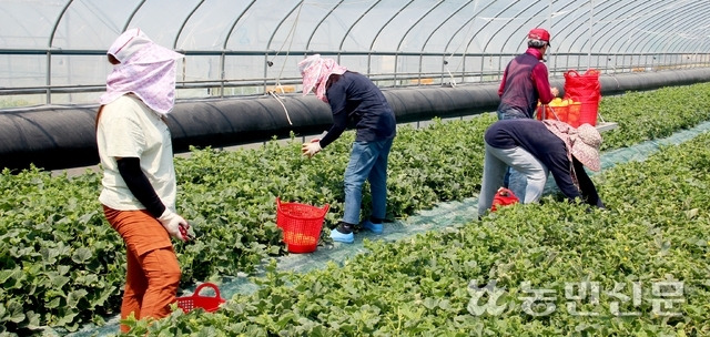
<instances>
[{"instance_id":1,"label":"person in cream T-shirt and orange pants with pink head covering","mask_svg":"<svg viewBox=\"0 0 710 337\"><path fill-rule=\"evenodd\" d=\"M99 201L126 247L121 318L170 314L181 270L170 237L187 241L175 213L175 170L165 116L175 98L175 63L183 55L130 29L106 52L113 71L97 114L103 168ZM122 325L121 331L128 331Z\"/></svg>"}]
</instances>

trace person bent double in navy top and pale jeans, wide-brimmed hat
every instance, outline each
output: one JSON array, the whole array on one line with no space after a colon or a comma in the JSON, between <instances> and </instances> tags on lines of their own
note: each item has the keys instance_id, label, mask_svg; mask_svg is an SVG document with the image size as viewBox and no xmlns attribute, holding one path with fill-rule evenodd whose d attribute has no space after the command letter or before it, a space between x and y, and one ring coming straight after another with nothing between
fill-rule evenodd
<instances>
[{"instance_id":1,"label":"person bent double in navy top and pale jeans, wide-brimmed hat","mask_svg":"<svg viewBox=\"0 0 710 337\"><path fill-rule=\"evenodd\" d=\"M582 124L575 129L554 120L500 120L486 130L484 141L486 154L478 216L490 208L508 166L527 178L524 195L518 195L523 203L540 200L551 172L570 202L580 197L591 206L605 207L585 171L585 166L600 170L601 135L596 127Z\"/></svg>"}]
</instances>

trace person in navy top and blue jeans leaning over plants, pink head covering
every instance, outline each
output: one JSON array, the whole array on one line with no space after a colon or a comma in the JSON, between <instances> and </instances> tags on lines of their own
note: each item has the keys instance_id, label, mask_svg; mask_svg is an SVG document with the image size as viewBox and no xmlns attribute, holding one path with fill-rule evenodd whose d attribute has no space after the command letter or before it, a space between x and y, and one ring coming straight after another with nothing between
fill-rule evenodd
<instances>
[{"instance_id":1,"label":"person in navy top and blue jeans leaning over plants, pink head covering","mask_svg":"<svg viewBox=\"0 0 710 337\"><path fill-rule=\"evenodd\" d=\"M348 126L356 130L345 168L345 214L331 237L336 242L354 242L353 229L359 223L365 181L369 182L372 193L372 215L362 226L382 233L387 206L387 157L396 135L392 108L367 76L348 71L333 59L314 54L298 62L298 70L304 95L315 93L333 113L333 126L327 134L303 144L303 154L312 157L337 140Z\"/></svg>"}]
</instances>

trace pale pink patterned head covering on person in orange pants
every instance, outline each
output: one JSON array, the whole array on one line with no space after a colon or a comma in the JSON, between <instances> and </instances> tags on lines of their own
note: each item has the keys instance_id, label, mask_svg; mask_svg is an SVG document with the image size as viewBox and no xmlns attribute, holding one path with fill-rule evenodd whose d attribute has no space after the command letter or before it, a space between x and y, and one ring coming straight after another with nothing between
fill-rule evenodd
<instances>
[{"instance_id":1,"label":"pale pink patterned head covering on person in orange pants","mask_svg":"<svg viewBox=\"0 0 710 337\"><path fill-rule=\"evenodd\" d=\"M168 114L175 104L175 61L183 58L158 45L138 28L126 30L109 48L106 54L121 63L106 79L106 92L101 105L134 93L160 114Z\"/></svg>"}]
</instances>

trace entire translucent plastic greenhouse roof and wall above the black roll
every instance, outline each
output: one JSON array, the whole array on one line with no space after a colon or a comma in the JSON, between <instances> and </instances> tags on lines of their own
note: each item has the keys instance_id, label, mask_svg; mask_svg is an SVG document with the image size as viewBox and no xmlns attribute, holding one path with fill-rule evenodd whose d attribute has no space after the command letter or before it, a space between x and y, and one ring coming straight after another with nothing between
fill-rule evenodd
<instances>
[{"instance_id":1,"label":"entire translucent plastic greenhouse roof and wall above the black roll","mask_svg":"<svg viewBox=\"0 0 710 337\"><path fill-rule=\"evenodd\" d=\"M206 98L297 91L311 53L379 85L495 81L536 27L552 76L707 67L709 19L708 0L0 0L0 96L95 102L130 28L184 53L181 98Z\"/></svg>"}]
</instances>

